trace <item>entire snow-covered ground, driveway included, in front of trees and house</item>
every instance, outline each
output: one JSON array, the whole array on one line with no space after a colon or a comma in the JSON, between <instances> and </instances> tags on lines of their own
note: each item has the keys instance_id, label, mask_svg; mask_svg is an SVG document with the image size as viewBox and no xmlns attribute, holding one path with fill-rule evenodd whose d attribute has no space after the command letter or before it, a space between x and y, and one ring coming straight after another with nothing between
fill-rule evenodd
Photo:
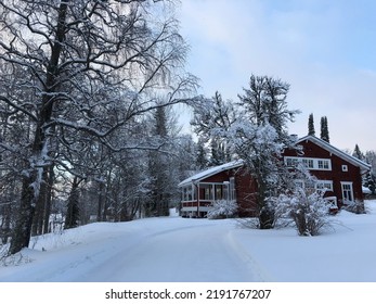
<instances>
[{"instance_id":1,"label":"entire snow-covered ground, driveway included, in front of trees and house","mask_svg":"<svg viewBox=\"0 0 376 304\"><path fill-rule=\"evenodd\" d=\"M22 256L0 261L0 281L376 282L376 201L366 208L340 212L319 237L235 219L95 223L33 239Z\"/></svg>"}]
</instances>

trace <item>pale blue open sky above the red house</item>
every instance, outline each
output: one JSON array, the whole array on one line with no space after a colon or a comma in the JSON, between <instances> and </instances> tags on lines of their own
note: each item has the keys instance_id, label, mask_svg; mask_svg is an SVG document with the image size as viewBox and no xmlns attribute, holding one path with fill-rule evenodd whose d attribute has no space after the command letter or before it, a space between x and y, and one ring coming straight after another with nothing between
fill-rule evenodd
<instances>
[{"instance_id":1,"label":"pale blue open sky above the red house","mask_svg":"<svg viewBox=\"0 0 376 304\"><path fill-rule=\"evenodd\" d=\"M308 117L328 121L330 143L376 151L376 1L182 0L177 17L191 46L186 69L199 92L237 101L249 77L290 85L300 110L290 134L308 132Z\"/></svg>"}]
</instances>

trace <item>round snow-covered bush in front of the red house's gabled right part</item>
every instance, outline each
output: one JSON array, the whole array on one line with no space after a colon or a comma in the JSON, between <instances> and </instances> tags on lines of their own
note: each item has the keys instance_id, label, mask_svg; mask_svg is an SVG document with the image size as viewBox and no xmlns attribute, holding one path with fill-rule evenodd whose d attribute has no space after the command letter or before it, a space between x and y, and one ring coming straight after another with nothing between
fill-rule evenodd
<instances>
[{"instance_id":1,"label":"round snow-covered bush in front of the red house's gabled right part","mask_svg":"<svg viewBox=\"0 0 376 304\"><path fill-rule=\"evenodd\" d=\"M329 226L329 206L321 191L297 188L291 194L281 194L275 203L278 217L291 218L299 236L317 236Z\"/></svg>"}]
</instances>

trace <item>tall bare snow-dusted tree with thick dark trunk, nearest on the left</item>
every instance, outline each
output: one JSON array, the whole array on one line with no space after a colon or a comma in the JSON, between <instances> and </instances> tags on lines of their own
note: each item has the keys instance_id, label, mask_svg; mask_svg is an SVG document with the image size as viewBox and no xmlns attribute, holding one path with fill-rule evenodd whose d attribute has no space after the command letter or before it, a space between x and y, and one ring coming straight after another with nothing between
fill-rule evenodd
<instances>
[{"instance_id":1,"label":"tall bare snow-dusted tree with thick dark trunk, nearest on the left","mask_svg":"<svg viewBox=\"0 0 376 304\"><path fill-rule=\"evenodd\" d=\"M54 140L69 150L75 144L64 135L70 132L111 151L147 148L147 142L119 142L114 134L151 110L190 100L196 79L183 71L187 47L169 11L172 4L0 1L0 65L23 69L22 79L1 90L0 102L31 122L29 145L2 143L8 151L26 151L11 254L28 246L46 172L51 166L79 172ZM155 90L168 97L164 104L155 102Z\"/></svg>"}]
</instances>

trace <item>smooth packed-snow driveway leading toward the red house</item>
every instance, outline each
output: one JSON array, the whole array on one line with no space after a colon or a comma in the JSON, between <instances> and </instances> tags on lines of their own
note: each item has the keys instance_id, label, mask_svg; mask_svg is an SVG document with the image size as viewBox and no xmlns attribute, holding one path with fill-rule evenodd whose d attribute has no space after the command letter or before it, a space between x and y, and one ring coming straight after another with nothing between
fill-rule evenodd
<instances>
[{"instance_id":1,"label":"smooth packed-snow driveway leading toward the red house","mask_svg":"<svg viewBox=\"0 0 376 304\"><path fill-rule=\"evenodd\" d=\"M144 237L135 246L120 251L114 259L88 273L85 281L252 279L250 271L244 267L230 245L229 226L207 225L206 220L190 221L186 220L173 230L161 230Z\"/></svg>"}]
</instances>

